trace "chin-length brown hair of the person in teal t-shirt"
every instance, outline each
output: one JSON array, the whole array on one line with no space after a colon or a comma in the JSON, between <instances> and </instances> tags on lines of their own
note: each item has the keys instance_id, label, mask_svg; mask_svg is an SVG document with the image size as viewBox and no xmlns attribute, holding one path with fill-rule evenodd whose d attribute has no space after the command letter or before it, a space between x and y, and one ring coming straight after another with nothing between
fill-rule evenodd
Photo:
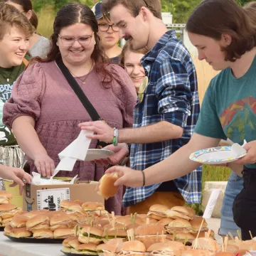
<instances>
[{"instance_id":1,"label":"chin-length brown hair of the person in teal t-shirt","mask_svg":"<svg viewBox=\"0 0 256 256\"><path fill-rule=\"evenodd\" d=\"M256 46L256 26L233 0L202 1L188 18L186 30L217 41L223 34L230 35L230 46L222 50L225 60L232 62Z\"/></svg>"}]
</instances>

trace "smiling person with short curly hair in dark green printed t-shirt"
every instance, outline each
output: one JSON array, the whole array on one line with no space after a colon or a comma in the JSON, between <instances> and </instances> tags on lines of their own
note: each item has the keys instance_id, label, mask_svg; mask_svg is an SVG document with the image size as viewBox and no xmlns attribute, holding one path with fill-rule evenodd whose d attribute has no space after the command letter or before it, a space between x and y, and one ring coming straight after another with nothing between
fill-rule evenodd
<instances>
[{"instance_id":1,"label":"smiling person with short curly hair in dark green printed t-shirt","mask_svg":"<svg viewBox=\"0 0 256 256\"><path fill-rule=\"evenodd\" d=\"M33 27L26 16L14 6L0 4L0 160L6 166L19 167L23 152L17 146L11 130L2 122L4 102L11 97L11 90L26 65L23 63L29 48Z\"/></svg>"}]
</instances>

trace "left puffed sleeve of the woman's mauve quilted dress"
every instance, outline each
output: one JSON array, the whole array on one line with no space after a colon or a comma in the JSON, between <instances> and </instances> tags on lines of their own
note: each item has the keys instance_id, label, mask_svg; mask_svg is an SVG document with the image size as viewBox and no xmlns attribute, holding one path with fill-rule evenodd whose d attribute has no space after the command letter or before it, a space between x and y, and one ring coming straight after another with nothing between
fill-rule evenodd
<instances>
[{"instance_id":1,"label":"left puffed sleeve of the woman's mauve quilted dress","mask_svg":"<svg viewBox=\"0 0 256 256\"><path fill-rule=\"evenodd\" d=\"M4 124L11 128L14 119L23 115L37 121L45 89L46 78L40 63L28 67L14 83L11 98L4 104Z\"/></svg>"}]
</instances>

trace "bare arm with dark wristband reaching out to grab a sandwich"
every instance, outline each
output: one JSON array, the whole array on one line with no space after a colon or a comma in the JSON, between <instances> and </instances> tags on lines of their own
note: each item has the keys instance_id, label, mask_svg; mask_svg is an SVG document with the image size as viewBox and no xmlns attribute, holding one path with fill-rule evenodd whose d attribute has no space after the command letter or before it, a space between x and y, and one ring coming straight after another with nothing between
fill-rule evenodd
<instances>
[{"instance_id":1,"label":"bare arm with dark wristband reaching out to grab a sandwich","mask_svg":"<svg viewBox=\"0 0 256 256\"><path fill-rule=\"evenodd\" d=\"M220 139L214 139L206 137L200 134L194 133L190 142L181 149L178 149L174 154L171 154L164 161L159 164L155 164L144 170L146 186L154 183L160 183L164 181L174 180L184 176L194 169L198 168L201 164L198 164L189 159L190 154L200 149L206 149L212 146L218 146ZM113 166L106 172L111 173L117 171L119 179L115 185L125 185L130 187L140 187L143 184L143 176L141 171L134 171L127 167Z\"/></svg>"}]
</instances>

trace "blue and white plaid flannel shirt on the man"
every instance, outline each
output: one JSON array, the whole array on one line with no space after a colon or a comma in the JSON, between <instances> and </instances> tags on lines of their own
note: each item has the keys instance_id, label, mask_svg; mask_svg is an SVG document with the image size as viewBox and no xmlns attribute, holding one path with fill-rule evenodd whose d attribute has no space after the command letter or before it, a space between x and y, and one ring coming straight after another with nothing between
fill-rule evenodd
<instances>
[{"instance_id":1,"label":"blue and white plaid flannel shirt on the man","mask_svg":"<svg viewBox=\"0 0 256 256\"><path fill-rule=\"evenodd\" d=\"M180 139L151 144L132 144L131 168L144 170L170 156L187 144L196 126L200 106L196 69L193 60L174 30L167 31L156 46L142 58L149 83L144 98L134 108L134 128L161 121L183 128ZM152 135L154 136L154 135ZM171 166L170 166L171 171ZM201 167L174 180L187 203L201 202ZM127 188L123 204L132 206L151 196L161 183L140 188Z\"/></svg>"}]
</instances>

